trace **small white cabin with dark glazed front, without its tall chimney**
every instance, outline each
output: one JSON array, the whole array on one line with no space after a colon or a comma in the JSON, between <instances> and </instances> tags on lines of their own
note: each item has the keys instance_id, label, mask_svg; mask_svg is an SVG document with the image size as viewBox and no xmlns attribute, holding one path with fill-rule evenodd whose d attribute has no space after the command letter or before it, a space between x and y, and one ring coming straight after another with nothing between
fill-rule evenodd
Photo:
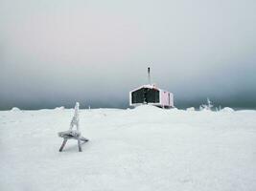
<instances>
[{"instance_id":1,"label":"small white cabin with dark glazed front, without its tall chimney","mask_svg":"<svg viewBox=\"0 0 256 191\"><path fill-rule=\"evenodd\" d=\"M174 95L168 91L156 88L155 85L143 85L129 92L129 105L154 105L162 108L174 107Z\"/></svg>"}]
</instances>

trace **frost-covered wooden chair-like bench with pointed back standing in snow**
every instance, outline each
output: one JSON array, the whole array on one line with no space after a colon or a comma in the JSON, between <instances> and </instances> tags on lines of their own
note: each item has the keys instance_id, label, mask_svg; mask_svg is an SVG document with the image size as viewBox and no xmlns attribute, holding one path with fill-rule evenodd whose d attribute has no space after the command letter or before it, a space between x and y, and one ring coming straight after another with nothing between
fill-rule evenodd
<instances>
[{"instance_id":1,"label":"frost-covered wooden chair-like bench with pointed back standing in snow","mask_svg":"<svg viewBox=\"0 0 256 191\"><path fill-rule=\"evenodd\" d=\"M84 141L84 142L88 141L87 138L83 138L81 136L81 132L79 129L79 107L80 107L80 104L79 104L79 102L77 102L76 106L75 106L75 114L70 122L69 130L58 133L58 137L63 138L63 142L59 148L59 152L61 152L63 150L68 139L77 139L78 140L78 146L79 146L80 152L81 152L81 141ZM77 130L73 130L74 126L77 127Z\"/></svg>"}]
</instances>

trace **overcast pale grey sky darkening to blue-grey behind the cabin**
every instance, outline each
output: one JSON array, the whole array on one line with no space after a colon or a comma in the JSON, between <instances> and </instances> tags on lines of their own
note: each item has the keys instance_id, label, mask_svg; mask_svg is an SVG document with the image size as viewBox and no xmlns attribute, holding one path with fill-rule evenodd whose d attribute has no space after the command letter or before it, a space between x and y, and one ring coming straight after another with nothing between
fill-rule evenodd
<instances>
[{"instance_id":1,"label":"overcast pale grey sky darkening to blue-grey behind the cabin","mask_svg":"<svg viewBox=\"0 0 256 191\"><path fill-rule=\"evenodd\" d=\"M0 109L127 107L147 83L178 107L256 108L255 0L0 0Z\"/></svg>"}]
</instances>

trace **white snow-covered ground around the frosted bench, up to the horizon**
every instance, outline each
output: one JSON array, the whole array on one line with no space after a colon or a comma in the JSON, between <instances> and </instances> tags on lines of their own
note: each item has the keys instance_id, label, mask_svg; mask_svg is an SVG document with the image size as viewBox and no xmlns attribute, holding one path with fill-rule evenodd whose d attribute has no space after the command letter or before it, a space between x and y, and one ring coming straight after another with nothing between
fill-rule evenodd
<instances>
[{"instance_id":1,"label":"white snow-covered ground around the frosted bench, up to the horizon","mask_svg":"<svg viewBox=\"0 0 256 191\"><path fill-rule=\"evenodd\" d=\"M0 112L0 190L256 190L256 111L81 110L59 153L73 112Z\"/></svg>"}]
</instances>

